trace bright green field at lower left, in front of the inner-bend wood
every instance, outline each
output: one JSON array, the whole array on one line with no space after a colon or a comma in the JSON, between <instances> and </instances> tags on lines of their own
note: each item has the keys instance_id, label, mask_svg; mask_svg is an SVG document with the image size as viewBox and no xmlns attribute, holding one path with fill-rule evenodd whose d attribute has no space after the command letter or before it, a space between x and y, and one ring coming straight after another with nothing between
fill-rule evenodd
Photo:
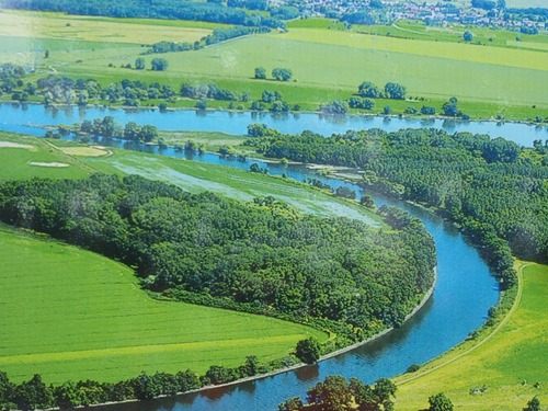
<instances>
[{"instance_id":1,"label":"bright green field at lower left, in front of the inner-bend wood","mask_svg":"<svg viewBox=\"0 0 548 411\"><path fill-rule=\"evenodd\" d=\"M283 358L323 333L267 317L157 300L133 271L0 226L0 369L14 381L117 381L142 370L205 373Z\"/></svg>"}]
</instances>

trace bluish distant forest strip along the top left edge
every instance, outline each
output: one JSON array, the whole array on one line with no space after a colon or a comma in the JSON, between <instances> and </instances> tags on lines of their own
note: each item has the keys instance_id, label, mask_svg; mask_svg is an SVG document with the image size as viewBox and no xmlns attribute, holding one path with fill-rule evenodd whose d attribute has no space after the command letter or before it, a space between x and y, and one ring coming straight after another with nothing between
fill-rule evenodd
<instances>
[{"instance_id":1,"label":"bluish distant forest strip along the top left edge","mask_svg":"<svg viewBox=\"0 0 548 411\"><path fill-rule=\"evenodd\" d=\"M285 23L261 13L225 7L217 2L175 0L128 0L112 3L102 0L5 0L8 9L59 11L79 15L107 15L113 18L150 18L172 20L196 20L246 26L285 27Z\"/></svg>"}]
</instances>

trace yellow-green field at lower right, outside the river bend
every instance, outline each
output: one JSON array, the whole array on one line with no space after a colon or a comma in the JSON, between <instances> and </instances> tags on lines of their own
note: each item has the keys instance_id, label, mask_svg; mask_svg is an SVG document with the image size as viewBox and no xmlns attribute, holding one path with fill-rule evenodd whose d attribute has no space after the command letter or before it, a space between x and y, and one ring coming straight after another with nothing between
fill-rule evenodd
<instances>
[{"instance_id":1,"label":"yellow-green field at lower right, outside the river bend","mask_svg":"<svg viewBox=\"0 0 548 411\"><path fill-rule=\"evenodd\" d=\"M465 343L421 368L416 378L399 377L398 410L425 409L427 398L441 391L463 410L521 410L534 396L546 404L548 266L521 263L520 270L523 294L507 322L475 350ZM482 387L484 392L470 393Z\"/></svg>"}]
</instances>

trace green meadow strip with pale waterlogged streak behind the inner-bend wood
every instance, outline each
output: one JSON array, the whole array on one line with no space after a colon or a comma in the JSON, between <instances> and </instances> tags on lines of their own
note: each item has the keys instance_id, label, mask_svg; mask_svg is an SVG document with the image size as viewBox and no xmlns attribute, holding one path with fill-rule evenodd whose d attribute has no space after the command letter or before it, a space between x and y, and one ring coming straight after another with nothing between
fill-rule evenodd
<instances>
[{"instance_id":1,"label":"green meadow strip with pale waterlogged streak behind the inner-bend wood","mask_svg":"<svg viewBox=\"0 0 548 411\"><path fill-rule=\"evenodd\" d=\"M193 134L193 136L194 139L199 140L198 135ZM207 137L212 135L204 134L203 140L207 140ZM31 148L1 147L2 141L24 144ZM73 157L65 152L70 146L77 146L77 144L24 138L0 133L0 164L2 164L0 165L0 181L33 176L84 178L98 171L119 175L139 174L151 180L179 185L190 192L207 190L239 201L252 201L255 197L272 195L307 214L346 216L373 226L381 226L381 220L377 215L357 203L334 197L293 180L128 150L113 150L113 156L104 157L96 157L95 152L89 157ZM85 151L80 149L80 153L82 152ZM69 167L37 167L31 165L31 162L60 162Z\"/></svg>"}]
</instances>

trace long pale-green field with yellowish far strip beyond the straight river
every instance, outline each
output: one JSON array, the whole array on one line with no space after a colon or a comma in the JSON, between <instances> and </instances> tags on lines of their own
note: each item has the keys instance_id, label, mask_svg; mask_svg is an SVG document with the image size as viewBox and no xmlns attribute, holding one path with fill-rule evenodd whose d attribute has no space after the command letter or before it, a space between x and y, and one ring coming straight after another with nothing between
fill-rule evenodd
<instances>
[{"instance_id":1,"label":"long pale-green field with yellowish far strip beyond the straight river","mask_svg":"<svg viewBox=\"0 0 548 411\"><path fill-rule=\"evenodd\" d=\"M52 54L49 64L77 77L111 82L137 76L118 68L133 64L140 48L115 55L95 50ZM326 56L330 56L326 59ZM81 62L75 62L80 57ZM147 66L152 57L146 56ZM344 92L347 99L365 80L384 85L406 84L409 95L434 100L457 96L467 101L499 103L502 106L548 106L548 54L457 43L395 39L349 32L295 28L286 34L255 35L207 47L199 52L162 55L165 72L146 71L145 81L168 81L180 88L183 81L231 83L251 91L281 90L289 102L326 103L326 90ZM107 68L114 65L115 68ZM251 79L255 67L270 72L288 67L295 81L279 84ZM284 94L292 89L295 100ZM312 104L313 105L313 104ZM318 104L313 106L317 109ZM493 113L494 115L496 113Z\"/></svg>"}]
</instances>

